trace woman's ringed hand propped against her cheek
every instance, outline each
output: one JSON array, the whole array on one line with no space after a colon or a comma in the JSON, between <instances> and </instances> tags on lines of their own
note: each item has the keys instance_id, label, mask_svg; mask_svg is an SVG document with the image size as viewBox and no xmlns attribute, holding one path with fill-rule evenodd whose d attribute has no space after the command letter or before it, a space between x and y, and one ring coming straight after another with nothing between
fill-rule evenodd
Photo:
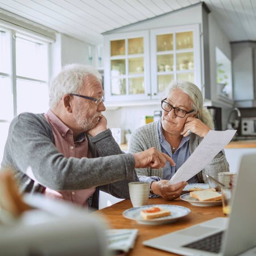
<instances>
[{"instance_id":1,"label":"woman's ringed hand propped against her cheek","mask_svg":"<svg viewBox=\"0 0 256 256\"><path fill-rule=\"evenodd\" d=\"M188 116L184 125L184 130L180 134L186 137L189 135L188 130L200 137L205 137L206 134L211 130L211 128L208 125L204 124L198 118Z\"/></svg>"}]
</instances>

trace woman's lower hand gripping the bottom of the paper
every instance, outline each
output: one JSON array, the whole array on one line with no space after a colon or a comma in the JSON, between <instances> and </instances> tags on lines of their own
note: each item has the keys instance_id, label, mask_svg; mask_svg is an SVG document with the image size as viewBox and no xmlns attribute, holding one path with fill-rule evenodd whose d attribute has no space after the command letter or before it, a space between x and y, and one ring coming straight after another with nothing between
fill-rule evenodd
<instances>
[{"instance_id":1,"label":"woman's lower hand gripping the bottom of the paper","mask_svg":"<svg viewBox=\"0 0 256 256\"><path fill-rule=\"evenodd\" d=\"M175 185L167 185L169 180L153 181L151 183L151 190L154 194L162 196L164 199L174 200L178 198L183 188L188 184L181 181Z\"/></svg>"}]
</instances>

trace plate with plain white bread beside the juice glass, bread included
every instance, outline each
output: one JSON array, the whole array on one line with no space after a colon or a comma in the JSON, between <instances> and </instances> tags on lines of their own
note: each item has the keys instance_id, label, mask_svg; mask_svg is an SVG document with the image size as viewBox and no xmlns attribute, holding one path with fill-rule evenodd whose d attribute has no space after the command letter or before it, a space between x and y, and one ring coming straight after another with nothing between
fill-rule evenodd
<instances>
[{"instance_id":1,"label":"plate with plain white bread beside the juice glass, bread included","mask_svg":"<svg viewBox=\"0 0 256 256\"><path fill-rule=\"evenodd\" d=\"M194 190L181 195L180 199L196 206L215 206L222 204L221 192L216 192L215 188Z\"/></svg>"}]
</instances>

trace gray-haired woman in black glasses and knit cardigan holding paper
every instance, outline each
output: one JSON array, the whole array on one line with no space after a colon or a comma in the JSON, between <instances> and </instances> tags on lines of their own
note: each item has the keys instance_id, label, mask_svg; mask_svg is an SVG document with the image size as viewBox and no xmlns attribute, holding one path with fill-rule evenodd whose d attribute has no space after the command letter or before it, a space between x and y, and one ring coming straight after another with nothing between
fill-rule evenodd
<instances>
[{"instance_id":1,"label":"gray-haired woman in black glasses and knit cardigan holding paper","mask_svg":"<svg viewBox=\"0 0 256 256\"><path fill-rule=\"evenodd\" d=\"M214 124L208 110L203 108L203 96L195 84L172 81L161 103L161 119L133 132L128 151L136 153L155 147L172 157L176 166L167 162L164 168L136 168L136 172L140 181L150 183L150 196L175 199L180 196L185 184L166 183L194 152L209 130L213 129ZM228 171L228 162L221 151L188 183L207 183L206 174L216 175L218 172Z\"/></svg>"}]
</instances>

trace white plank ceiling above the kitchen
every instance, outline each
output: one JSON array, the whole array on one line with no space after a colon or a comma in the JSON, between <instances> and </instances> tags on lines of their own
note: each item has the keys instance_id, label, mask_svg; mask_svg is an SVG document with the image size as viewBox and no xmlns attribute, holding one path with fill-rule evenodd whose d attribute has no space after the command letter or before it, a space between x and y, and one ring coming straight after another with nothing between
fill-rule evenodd
<instances>
[{"instance_id":1,"label":"white plank ceiling above the kitchen","mask_svg":"<svg viewBox=\"0 0 256 256\"><path fill-rule=\"evenodd\" d=\"M0 0L0 8L90 44L101 33L202 0ZM256 41L256 0L204 0L230 41Z\"/></svg>"}]
</instances>

